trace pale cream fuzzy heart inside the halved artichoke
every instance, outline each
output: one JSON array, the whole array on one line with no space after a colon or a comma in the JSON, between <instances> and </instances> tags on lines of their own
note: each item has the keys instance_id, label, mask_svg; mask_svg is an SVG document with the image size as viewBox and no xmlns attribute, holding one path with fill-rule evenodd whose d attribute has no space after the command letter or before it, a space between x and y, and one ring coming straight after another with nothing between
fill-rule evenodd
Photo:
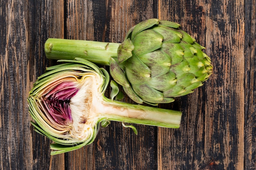
<instances>
[{"instance_id":1,"label":"pale cream fuzzy heart inside the halved artichoke","mask_svg":"<svg viewBox=\"0 0 256 170\"><path fill-rule=\"evenodd\" d=\"M80 81L79 91L70 99L73 119L70 135L78 140L86 140L93 134L97 125L97 107L101 107L104 79L97 73L88 72Z\"/></svg>"}]
</instances>

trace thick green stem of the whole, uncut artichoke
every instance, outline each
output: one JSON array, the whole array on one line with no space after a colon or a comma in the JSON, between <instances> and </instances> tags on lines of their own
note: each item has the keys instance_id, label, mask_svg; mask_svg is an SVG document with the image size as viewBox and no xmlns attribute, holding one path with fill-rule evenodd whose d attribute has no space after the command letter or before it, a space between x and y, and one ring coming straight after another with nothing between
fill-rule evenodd
<instances>
[{"instance_id":1,"label":"thick green stem of the whole, uncut artichoke","mask_svg":"<svg viewBox=\"0 0 256 170\"><path fill-rule=\"evenodd\" d=\"M73 60L75 57L90 62L110 65L110 57L117 57L119 43L49 38L45 55L54 60Z\"/></svg>"}]
</instances>

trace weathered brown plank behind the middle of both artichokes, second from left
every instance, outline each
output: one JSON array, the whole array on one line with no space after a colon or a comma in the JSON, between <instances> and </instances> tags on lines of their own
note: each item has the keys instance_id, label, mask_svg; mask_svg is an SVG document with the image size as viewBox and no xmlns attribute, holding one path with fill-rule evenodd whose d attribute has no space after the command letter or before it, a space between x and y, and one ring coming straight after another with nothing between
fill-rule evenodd
<instances>
[{"instance_id":1,"label":"weathered brown plank behind the middle of both artichokes, second from left","mask_svg":"<svg viewBox=\"0 0 256 170\"><path fill-rule=\"evenodd\" d=\"M153 1L67 1L67 38L122 42L130 27L153 18ZM108 66L104 66L108 69ZM109 97L110 89L106 96ZM127 102L131 102L126 97ZM67 153L67 169L156 168L156 129L135 125L139 135L119 122L101 128L94 143ZM76 160L76 161L72 161ZM78 163L77 163L78 162Z\"/></svg>"}]
</instances>

